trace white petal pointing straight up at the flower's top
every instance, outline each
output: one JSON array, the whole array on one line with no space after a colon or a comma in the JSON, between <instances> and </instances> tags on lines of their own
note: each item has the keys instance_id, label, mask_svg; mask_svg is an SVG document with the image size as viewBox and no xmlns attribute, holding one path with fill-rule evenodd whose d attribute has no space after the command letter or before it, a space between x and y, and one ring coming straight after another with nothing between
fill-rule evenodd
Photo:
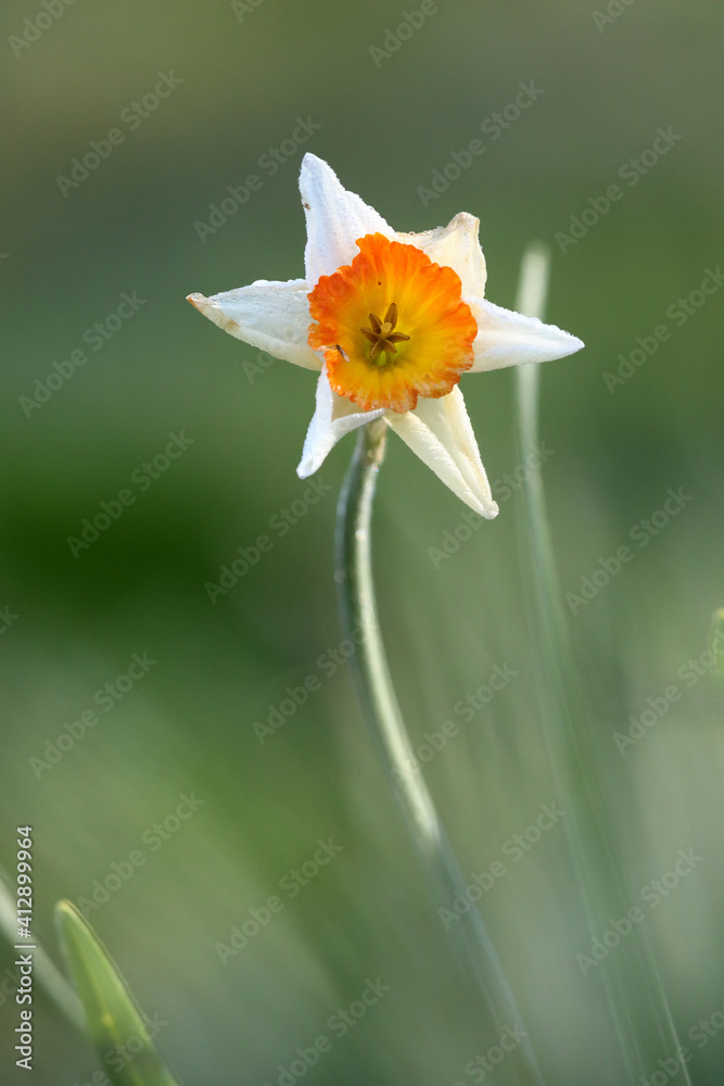
<instances>
[{"instance_id":1,"label":"white petal pointing straight up at the flower's top","mask_svg":"<svg viewBox=\"0 0 724 1086\"><path fill-rule=\"evenodd\" d=\"M373 207L347 190L326 162L304 155L300 174L302 204L307 218L304 253L307 282L314 287L322 275L332 275L357 255L355 242L366 233L394 238L394 230Z\"/></svg>"}]
</instances>

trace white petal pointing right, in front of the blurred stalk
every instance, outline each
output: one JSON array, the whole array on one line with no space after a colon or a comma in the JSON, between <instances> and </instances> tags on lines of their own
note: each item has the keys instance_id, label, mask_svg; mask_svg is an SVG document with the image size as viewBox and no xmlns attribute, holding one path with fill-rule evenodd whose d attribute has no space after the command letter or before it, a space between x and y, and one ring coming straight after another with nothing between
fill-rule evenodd
<instances>
[{"instance_id":1,"label":"white petal pointing right, in front of the blurred stalk","mask_svg":"<svg viewBox=\"0 0 724 1086\"><path fill-rule=\"evenodd\" d=\"M537 317L523 317L482 298L466 298L466 302L478 321L475 361L469 374L564 358L584 345L575 336L556 325L544 325Z\"/></svg>"}]
</instances>

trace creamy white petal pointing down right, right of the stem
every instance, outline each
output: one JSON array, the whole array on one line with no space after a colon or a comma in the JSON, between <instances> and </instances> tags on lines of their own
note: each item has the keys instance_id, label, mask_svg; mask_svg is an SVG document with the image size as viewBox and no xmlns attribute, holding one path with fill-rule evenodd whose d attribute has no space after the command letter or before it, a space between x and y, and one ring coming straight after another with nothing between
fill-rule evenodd
<instances>
[{"instance_id":1,"label":"creamy white petal pointing down right, right of the stem","mask_svg":"<svg viewBox=\"0 0 724 1086\"><path fill-rule=\"evenodd\" d=\"M459 388L439 400L418 400L415 411L388 412L384 421L466 505L491 520L493 501L485 468Z\"/></svg>"}]
</instances>

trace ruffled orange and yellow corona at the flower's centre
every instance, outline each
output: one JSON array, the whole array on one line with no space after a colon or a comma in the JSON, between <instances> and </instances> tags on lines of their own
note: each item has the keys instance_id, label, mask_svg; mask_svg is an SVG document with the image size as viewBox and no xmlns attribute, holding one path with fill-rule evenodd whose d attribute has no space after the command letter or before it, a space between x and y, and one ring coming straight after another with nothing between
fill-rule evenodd
<instances>
[{"instance_id":1,"label":"ruffled orange and yellow corona at the flower's centre","mask_svg":"<svg viewBox=\"0 0 724 1086\"><path fill-rule=\"evenodd\" d=\"M460 277L415 245L368 233L352 264L309 294L308 342L332 389L363 411L411 411L452 392L470 369L478 325Z\"/></svg>"}]
</instances>

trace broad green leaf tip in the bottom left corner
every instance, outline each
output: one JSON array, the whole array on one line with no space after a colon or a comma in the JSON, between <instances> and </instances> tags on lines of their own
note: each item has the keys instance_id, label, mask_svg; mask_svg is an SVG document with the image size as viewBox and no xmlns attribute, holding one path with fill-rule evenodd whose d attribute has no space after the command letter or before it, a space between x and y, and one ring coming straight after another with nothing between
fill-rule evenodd
<instances>
[{"instance_id":1,"label":"broad green leaf tip in the bottom left corner","mask_svg":"<svg viewBox=\"0 0 724 1086\"><path fill-rule=\"evenodd\" d=\"M158 1059L149 1020L92 929L69 901L55 906L68 971L86 1012L88 1032L114 1086L177 1086ZM104 1057L114 1052L112 1059Z\"/></svg>"}]
</instances>

